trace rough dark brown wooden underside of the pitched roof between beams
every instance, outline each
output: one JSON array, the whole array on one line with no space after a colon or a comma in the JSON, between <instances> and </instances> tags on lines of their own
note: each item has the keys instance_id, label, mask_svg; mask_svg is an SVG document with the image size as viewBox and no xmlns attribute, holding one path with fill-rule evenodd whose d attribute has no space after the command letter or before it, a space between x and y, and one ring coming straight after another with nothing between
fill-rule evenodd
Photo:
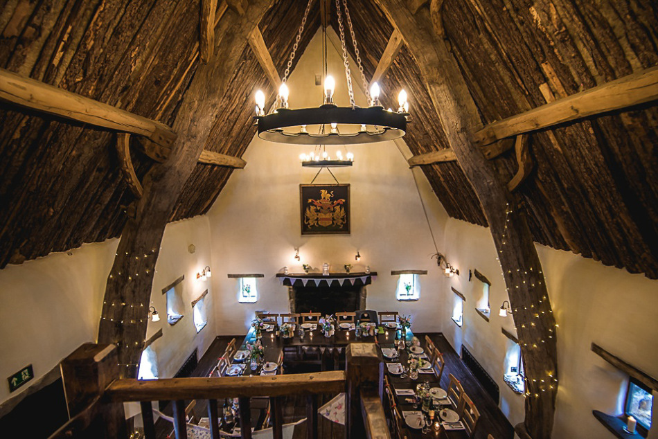
<instances>
[{"instance_id":1,"label":"rough dark brown wooden underside of the pitched roof between beams","mask_svg":"<svg viewBox=\"0 0 658 439\"><path fill-rule=\"evenodd\" d=\"M260 24L280 75L304 3L279 0ZM370 78L393 28L372 1L348 4ZM483 123L544 105L545 87L561 98L658 64L651 0L445 0L443 24ZM315 2L299 53L318 27ZM177 107L199 62L197 0L14 0L0 12L0 29L0 63L10 71L169 125L194 117ZM382 82L409 91L411 151L447 147L406 48ZM258 88L272 91L247 48L206 149L242 155L254 134ZM393 107L394 96L383 101ZM0 119L0 267L120 235L134 197L118 170L113 133L5 104ZM658 278L657 127L654 102L531 134L535 169L515 194L535 241ZM152 161L133 154L143 177ZM513 150L491 163L503 181L518 166ZM486 225L456 162L423 170L452 217ZM206 213L230 174L197 165L171 219Z\"/></svg>"}]
</instances>

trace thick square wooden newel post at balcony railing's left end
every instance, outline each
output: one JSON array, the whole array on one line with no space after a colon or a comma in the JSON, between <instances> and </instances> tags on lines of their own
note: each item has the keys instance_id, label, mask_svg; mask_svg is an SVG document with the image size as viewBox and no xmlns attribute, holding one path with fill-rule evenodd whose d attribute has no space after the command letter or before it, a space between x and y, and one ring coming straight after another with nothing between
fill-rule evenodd
<instances>
[{"instance_id":1,"label":"thick square wooden newel post at balcony railing's left end","mask_svg":"<svg viewBox=\"0 0 658 439\"><path fill-rule=\"evenodd\" d=\"M98 410L94 410L98 415L90 420L87 436L126 438L123 404L102 399L105 388L119 376L116 347L85 343L66 357L60 368L69 418L98 404Z\"/></svg>"}]
</instances>

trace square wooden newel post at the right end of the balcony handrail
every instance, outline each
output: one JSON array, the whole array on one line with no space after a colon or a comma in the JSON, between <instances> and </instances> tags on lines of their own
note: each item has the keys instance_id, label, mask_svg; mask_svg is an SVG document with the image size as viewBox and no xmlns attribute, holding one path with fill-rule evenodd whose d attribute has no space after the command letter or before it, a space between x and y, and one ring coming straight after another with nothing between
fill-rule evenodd
<instances>
[{"instance_id":1,"label":"square wooden newel post at the right end of the balcony handrail","mask_svg":"<svg viewBox=\"0 0 658 439\"><path fill-rule=\"evenodd\" d=\"M384 363L375 343L351 343L347 347L345 374L346 437L365 438L361 391L366 389L380 393L381 383L384 380Z\"/></svg>"}]
</instances>

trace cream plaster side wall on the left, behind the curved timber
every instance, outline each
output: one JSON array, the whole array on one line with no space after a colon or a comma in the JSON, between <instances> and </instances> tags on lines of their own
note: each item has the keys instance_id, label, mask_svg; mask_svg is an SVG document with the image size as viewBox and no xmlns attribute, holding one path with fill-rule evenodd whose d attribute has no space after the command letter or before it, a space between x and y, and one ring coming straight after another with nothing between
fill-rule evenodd
<instances>
[{"instance_id":1,"label":"cream plaster side wall on the left, behind the curved timber","mask_svg":"<svg viewBox=\"0 0 658 439\"><path fill-rule=\"evenodd\" d=\"M211 264L208 217L196 217L169 224L154 276L152 305L163 318L149 322L147 338L163 329L154 342L161 377L172 376L195 347L203 355L215 338L211 283L196 279L196 273ZM195 244L190 254L188 245ZM118 240L84 244L66 253L9 265L0 270L0 377L9 377L32 364L35 379L9 393L0 386L0 403L23 392L52 370L80 344L96 341L98 321L105 293L105 281L112 268ZM181 274L184 280L185 316L170 327L166 323L166 302L161 289ZM208 325L196 334L192 301L208 288L205 306Z\"/></svg>"}]
</instances>

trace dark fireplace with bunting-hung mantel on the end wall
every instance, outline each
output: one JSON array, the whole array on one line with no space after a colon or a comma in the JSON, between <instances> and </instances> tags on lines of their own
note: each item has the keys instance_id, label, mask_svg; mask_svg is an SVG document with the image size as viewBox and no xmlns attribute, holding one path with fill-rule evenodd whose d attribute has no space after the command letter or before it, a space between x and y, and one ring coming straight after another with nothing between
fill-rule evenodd
<instances>
[{"instance_id":1,"label":"dark fireplace with bunting-hung mantel on the end wall","mask_svg":"<svg viewBox=\"0 0 658 439\"><path fill-rule=\"evenodd\" d=\"M322 315L366 309L366 285L376 273L277 275L288 287L290 312Z\"/></svg>"}]
</instances>

